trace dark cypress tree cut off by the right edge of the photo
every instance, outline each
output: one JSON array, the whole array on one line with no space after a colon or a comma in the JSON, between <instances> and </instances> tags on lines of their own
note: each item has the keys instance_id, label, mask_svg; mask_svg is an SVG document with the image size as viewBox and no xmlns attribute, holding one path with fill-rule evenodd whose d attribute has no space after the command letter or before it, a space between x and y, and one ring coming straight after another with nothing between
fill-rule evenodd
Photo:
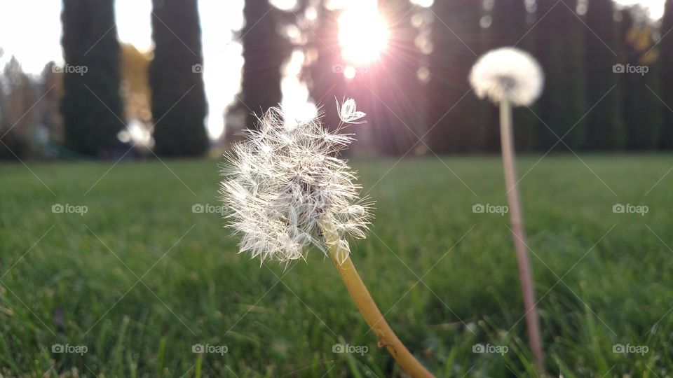
<instances>
[{"instance_id":1,"label":"dark cypress tree cut off by the right edge of the photo","mask_svg":"<svg viewBox=\"0 0 673 378\"><path fill-rule=\"evenodd\" d=\"M660 146L673 148L673 0L667 0L664 16L661 20L662 41L659 43L661 54L663 128Z\"/></svg>"}]
</instances>

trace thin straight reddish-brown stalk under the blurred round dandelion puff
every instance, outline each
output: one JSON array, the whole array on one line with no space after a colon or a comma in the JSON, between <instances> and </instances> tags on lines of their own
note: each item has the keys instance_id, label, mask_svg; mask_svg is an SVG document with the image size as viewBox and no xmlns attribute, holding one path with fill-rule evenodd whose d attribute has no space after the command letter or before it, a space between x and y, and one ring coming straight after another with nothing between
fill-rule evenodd
<instances>
[{"instance_id":1,"label":"thin straight reddish-brown stalk under the blurred round dandelion puff","mask_svg":"<svg viewBox=\"0 0 673 378\"><path fill-rule=\"evenodd\" d=\"M507 99L500 103L500 135L503 152L503 168L505 170L505 185L507 186L507 200L510 207L510 222L512 223L512 237L517 251L517 263L519 265L519 279L521 280L522 293L524 295L524 311L526 328L528 330L528 342L535 357L538 370L544 372L544 354L542 338L540 335L540 321L536 307L535 291L533 289L533 276L526 248L526 232L524 231L524 219L519 199L517 186L517 174L514 160L514 132L512 131L512 106Z\"/></svg>"}]
</instances>

